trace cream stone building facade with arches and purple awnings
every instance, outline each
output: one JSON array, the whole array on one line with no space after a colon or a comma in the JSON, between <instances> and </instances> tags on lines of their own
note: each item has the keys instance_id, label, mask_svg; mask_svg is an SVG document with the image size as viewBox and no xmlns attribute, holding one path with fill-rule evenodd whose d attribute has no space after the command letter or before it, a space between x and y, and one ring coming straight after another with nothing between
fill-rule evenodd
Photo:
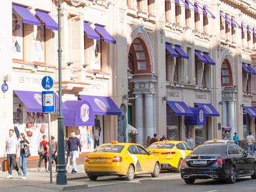
<instances>
[{"instance_id":1,"label":"cream stone building facade with arches and purple awnings","mask_svg":"<svg viewBox=\"0 0 256 192\"><path fill-rule=\"evenodd\" d=\"M60 71L64 132L75 130L83 151L145 145L154 133L192 135L195 146L255 133L255 1L64 0L59 9L2 2L0 151L9 128L27 133L35 156L42 135L58 135L59 104L43 113L41 80L53 78L58 101Z\"/></svg>"}]
</instances>

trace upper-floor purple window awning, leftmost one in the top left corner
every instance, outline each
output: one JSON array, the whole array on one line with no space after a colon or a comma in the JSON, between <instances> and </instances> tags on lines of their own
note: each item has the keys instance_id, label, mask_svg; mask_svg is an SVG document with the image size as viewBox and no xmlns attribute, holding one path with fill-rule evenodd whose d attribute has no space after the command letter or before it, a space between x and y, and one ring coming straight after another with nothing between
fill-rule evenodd
<instances>
[{"instance_id":1,"label":"upper-floor purple window awning, leftmost one in the top left corner","mask_svg":"<svg viewBox=\"0 0 256 192\"><path fill-rule=\"evenodd\" d=\"M32 13L29 10L26 9L26 7L12 5L12 9L14 9L17 12L17 14L19 14L20 17L22 17L23 23L37 26L41 25L40 21L36 19L35 16L32 15Z\"/></svg>"}]
</instances>

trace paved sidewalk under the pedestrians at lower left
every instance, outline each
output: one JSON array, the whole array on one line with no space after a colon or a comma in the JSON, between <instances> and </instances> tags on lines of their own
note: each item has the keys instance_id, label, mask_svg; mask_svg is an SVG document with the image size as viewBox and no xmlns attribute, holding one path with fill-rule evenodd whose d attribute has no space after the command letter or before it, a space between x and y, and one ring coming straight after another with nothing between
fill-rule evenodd
<instances>
[{"instance_id":1,"label":"paved sidewalk under the pedestrians at lower left","mask_svg":"<svg viewBox=\"0 0 256 192\"><path fill-rule=\"evenodd\" d=\"M42 167L41 167L42 168ZM38 188L43 188L44 190L55 190L55 191L66 191L66 190L75 190L81 188L87 188L84 178L87 178L87 175L83 169L83 164L77 165L77 173L72 174L71 167L69 167L69 172L67 175L67 184L66 185L56 185L56 175L57 173L53 170L52 173L52 183L50 183L50 173L42 169L42 172L38 172L36 168L28 169L27 179L23 180L21 177L18 177L18 174L15 170L12 170L12 179L6 179L8 172L0 171L0 190L7 191L7 188L15 188L20 186L33 186ZM21 190L22 191L22 190Z\"/></svg>"}]
</instances>

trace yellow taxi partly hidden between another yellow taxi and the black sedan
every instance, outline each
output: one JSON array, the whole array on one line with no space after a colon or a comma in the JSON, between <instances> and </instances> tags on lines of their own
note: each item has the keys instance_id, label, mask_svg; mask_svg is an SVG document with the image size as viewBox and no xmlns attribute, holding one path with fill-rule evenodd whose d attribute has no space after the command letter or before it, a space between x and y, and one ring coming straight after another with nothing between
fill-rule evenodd
<instances>
[{"instance_id":1,"label":"yellow taxi partly hidden between another yellow taxi and the black sedan","mask_svg":"<svg viewBox=\"0 0 256 192\"><path fill-rule=\"evenodd\" d=\"M163 140L150 144L147 151L159 158L161 170L170 169L179 172L182 159L193 149L193 146L186 141Z\"/></svg>"}]
</instances>

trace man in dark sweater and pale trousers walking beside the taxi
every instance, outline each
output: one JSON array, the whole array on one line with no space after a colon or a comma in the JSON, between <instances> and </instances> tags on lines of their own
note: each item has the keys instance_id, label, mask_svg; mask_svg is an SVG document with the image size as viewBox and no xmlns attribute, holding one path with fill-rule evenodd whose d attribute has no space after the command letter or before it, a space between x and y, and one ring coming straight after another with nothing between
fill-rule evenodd
<instances>
[{"instance_id":1,"label":"man in dark sweater and pale trousers walking beside the taxi","mask_svg":"<svg viewBox=\"0 0 256 192\"><path fill-rule=\"evenodd\" d=\"M69 155L71 157L71 161L72 161L71 173L77 173L76 159L78 156L78 150L79 150L79 154L81 154L81 143L79 138L75 136L75 131L73 130L70 132L70 138L67 140L66 149L65 149L66 153L67 151L69 151Z\"/></svg>"}]
</instances>

